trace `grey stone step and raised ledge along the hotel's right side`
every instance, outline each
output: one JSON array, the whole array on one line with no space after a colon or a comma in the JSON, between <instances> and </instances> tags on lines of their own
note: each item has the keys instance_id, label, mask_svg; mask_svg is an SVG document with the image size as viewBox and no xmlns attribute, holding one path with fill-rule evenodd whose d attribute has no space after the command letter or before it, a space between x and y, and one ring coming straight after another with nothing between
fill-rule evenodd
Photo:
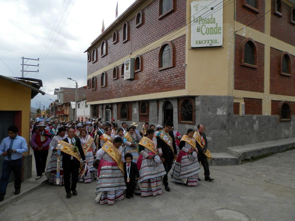
<instances>
[{"instance_id":1,"label":"grey stone step and raised ledge along the hotel's right side","mask_svg":"<svg viewBox=\"0 0 295 221\"><path fill-rule=\"evenodd\" d=\"M238 165L242 160L271 152L277 153L292 147L295 147L295 138L233 146L227 148L227 153L211 153L212 159L208 162L212 166Z\"/></svg>"}]
</instances>

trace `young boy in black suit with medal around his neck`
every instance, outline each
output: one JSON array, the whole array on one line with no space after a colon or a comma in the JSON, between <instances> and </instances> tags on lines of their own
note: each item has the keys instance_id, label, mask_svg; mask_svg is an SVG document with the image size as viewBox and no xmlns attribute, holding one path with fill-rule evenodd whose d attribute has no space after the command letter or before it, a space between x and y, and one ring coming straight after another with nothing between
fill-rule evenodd
<instances>
[{"instance_id":1,"label":"young boy in black suit with medal around his neck","mask_svg":"<svg viewBox=\"0 0 295 221\"><path fill-rule=\"evenodd\" d=\"M139 179L139 171L135 162L132 162L133 156L130 153L124 156L124 179L127 189L125 190L126 197L130 199L133 197L133 191L135 189L135 178Z\"/></svg>"}]
</instances>

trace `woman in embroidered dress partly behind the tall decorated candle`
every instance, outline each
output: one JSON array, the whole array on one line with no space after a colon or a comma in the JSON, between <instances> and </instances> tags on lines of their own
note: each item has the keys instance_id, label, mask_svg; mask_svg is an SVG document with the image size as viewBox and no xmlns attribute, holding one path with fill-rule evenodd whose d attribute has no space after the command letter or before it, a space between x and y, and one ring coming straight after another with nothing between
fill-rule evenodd
<instances>
[{"instance_id":1,"label":"woman in embroidered dress partly behind the tall decorated candle","mask_svg":"<svg viewBox=\"0 0 295 221\"><path fill-rule=\"evenodd\" d=\"M57 129L57 134L55 137L52 138L49 148L52 151L51 156L50 156L50 161L47 166L47 169L45 171L45 176L48 179L48 182L51 184L56 185L56 169L57 169L57 145L58 141L62 141L65 139L68 135L65 135L66 129L64 127L60 127ZM60 182L59 185L63 185L63 156L60 156Z\"/></svg>"}]
</instances>

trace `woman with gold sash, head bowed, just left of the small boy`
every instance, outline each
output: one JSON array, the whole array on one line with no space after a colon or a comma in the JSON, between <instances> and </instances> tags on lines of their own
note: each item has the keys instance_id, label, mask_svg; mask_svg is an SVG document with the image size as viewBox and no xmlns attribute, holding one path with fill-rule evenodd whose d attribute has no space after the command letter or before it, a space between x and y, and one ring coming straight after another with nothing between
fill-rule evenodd
<instances>
[{"instance_id":1,"label":"woman with gold sash, head bowed, just left of the small boy","mask_svg":"<svg viewBox=\"0 0 295 221\"><path fill-rule=\"evenodd\" d=\"M96 153L99 161L97 170L97 184L95 193L96 202L99 204L113 205L114 201L124 199L126 184L124 180L124 153L121 146L122 138L116 137L113 143L107 141ZM114 155L110 154L112 150Z\"/></svg>"}]
</instances>

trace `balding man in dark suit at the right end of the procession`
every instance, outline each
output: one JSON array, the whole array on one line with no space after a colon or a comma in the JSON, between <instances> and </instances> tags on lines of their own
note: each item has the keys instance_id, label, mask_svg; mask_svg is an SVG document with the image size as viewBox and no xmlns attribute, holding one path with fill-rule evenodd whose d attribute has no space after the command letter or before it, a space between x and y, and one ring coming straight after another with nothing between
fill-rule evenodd
<instances>
[{"instance_id":1,"label":"balding man in dark suit at the right end of the procession","mask_svg":"<svg viewBox=\"0 0 295 221\"><path fill-rule=\"evenodd\" d=\"M200 146L200 144L198 144L198 142L196 142L197 145L197 149L199 151L198 153L198 161L202 163L203 167L204 167L204 175L205 175L205 180L206 181L213 181L214 179L212 179L210 177L210 170L209 170L209 164L208 164L208 158L205 155L206 151L207 151L207 138L206 138L206 134L204 133L204 125L203 124L199 124L198 125L198 130L197 132L200 134L200 136L203 137L204 141L205 141L205 146L204 149L202 149L202 147ZM199 178L199 181L201 181L201 179Z\"/></svg>"}]
</instances>

